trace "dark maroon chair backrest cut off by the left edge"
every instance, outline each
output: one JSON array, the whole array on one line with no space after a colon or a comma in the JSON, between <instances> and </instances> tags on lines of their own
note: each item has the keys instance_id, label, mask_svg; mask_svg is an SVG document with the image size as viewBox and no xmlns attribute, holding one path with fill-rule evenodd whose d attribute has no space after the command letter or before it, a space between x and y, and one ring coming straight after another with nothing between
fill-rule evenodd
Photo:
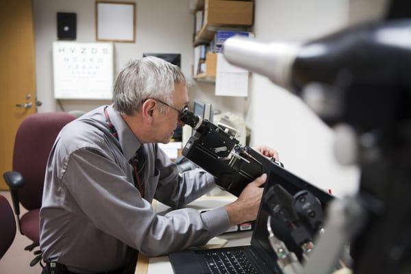
<instances>
[{"instance_id":1,"label":"dark maroon chair backrest cut off by the left edge","mask_svg":"<svg viewBox=\"0 0 411 274\"><path fill-rule=\"evenodd\" d=\"M16 221L10 203L0 195L0 260L16 236Z\"/></svg>"}]
</instances>

